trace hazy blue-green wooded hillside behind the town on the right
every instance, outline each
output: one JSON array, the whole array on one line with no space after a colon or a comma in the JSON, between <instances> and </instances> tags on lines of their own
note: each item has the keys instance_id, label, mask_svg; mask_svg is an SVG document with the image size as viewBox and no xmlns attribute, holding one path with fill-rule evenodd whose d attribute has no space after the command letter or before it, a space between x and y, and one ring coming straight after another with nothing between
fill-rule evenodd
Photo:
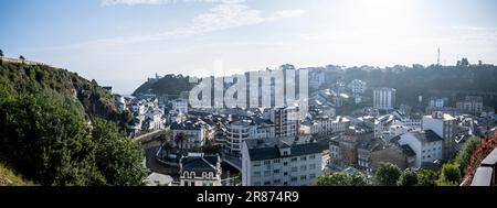
<instances>
[{"instance_id":1,"label":"hazy blue-green wooded hillside behind the town on the right","mask_svg":"<svg viewBox=\"0 0 497 208\"><path fill-rule=\"evenodd\" d=\"M497 77L497 66L494 65L459 65L459 66L395 66L387 68L352 67L342 72L328 73L327 84L331 87L336 80L349 84L353 79L367 81L367 95L372 95L371 88L392 87L396 91L398 103L417 105L417 96L423 96L426 103L431 96L455 98L466 92L496 92L494 77ZM497 108L497 96L484 96L487 106ZM451 103L454 106L454 103Z\"/></svg>"}]
</instances>

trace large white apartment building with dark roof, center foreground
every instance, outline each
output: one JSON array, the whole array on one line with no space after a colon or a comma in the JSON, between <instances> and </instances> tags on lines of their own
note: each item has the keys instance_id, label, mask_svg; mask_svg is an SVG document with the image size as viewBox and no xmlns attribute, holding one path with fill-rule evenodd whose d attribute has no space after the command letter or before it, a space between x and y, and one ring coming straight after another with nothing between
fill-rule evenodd
<instances>
[{"instance_id":1,"label":"large white apartment building with dark roof, center foreground","mask_svg":"<svg viewBox=\"0 0 497 208\"><path fill-rule=\"evenodd\" d=\"M321 175L317 143L247 140L242 150L243 186L307 186Z\"/></svg>"}]
</instances>

